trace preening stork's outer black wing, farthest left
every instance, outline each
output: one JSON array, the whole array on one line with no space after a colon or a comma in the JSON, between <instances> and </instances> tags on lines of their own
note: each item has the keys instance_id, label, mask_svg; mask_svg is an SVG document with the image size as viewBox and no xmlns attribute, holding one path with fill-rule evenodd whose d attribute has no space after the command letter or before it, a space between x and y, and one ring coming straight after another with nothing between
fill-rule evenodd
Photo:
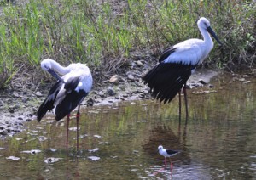
<instances>
[{"instance_id":1,"label":"preening stork's outer black wing, farthest left","mask_svg":"<svg viewBox=\"0 0 256 180\"><path fill-rule=\"evenodd\" d=\"M54 108L55 98L59 93L62 84L62 82L58 81L53 87L50 88L47 98L44 99L44 102L38 109L38 121L41 121L47 111Z\"/></svg>"}]
</instances>

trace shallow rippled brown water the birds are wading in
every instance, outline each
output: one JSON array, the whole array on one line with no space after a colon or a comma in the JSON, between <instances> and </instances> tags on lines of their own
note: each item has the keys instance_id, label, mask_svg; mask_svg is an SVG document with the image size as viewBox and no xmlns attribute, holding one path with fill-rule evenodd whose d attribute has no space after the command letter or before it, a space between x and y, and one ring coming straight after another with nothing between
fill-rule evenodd
<instances>
[{"instance_id":1,"label":"shallow rippled brown water the birds are wading in","mask_svg":"<svg viewBox=\"0 0 256 180\"><path fill-rule=\"evenodd\" d=\"M66 121L56 123L47 115L41 123L29 122L25 132L0 141L0 175L3 179L256 178L255 78L226 75L212 83L213 88L189 90L187 125L182 119L179 126L177 98L171 104L147 100L85 108L78 155L75 128L66 149ZM75 125L72 121L71 127ZM160 144L182 151L172 157L172 172L170 163L164 168L157 152Z\"/></svg>"}]
</instances>

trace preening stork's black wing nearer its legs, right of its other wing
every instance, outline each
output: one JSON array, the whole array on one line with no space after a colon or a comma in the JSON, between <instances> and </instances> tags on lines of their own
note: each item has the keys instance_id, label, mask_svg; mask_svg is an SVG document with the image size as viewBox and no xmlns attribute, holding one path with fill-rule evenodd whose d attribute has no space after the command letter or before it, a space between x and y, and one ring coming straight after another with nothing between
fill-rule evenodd
<instances>
[{"instance_id":1,"label":"preening stork's black wing nearer its legs, right of its other wing","mask_svg":"<svg viewBox=\"0 0 256 180\"><path fill-rule=\"evenodd\" d=\"M65 83L64 89L58 94L56 99L55 120L59 121L69 115L89 93L84 89L76 89L79 85L80 77L70 77Z\"/></svg>"}]
</instances>

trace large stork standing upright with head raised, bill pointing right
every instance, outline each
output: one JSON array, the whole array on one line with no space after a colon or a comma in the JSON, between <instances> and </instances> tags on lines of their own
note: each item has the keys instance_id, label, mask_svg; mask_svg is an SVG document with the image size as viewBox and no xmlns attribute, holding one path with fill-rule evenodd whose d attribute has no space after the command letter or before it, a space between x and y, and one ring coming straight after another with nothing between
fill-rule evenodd
<instances>
[{"instance_id":1,"label":"large stork standing upright with head raised, bill pointing right","mask_svg":"<svg viewBox=\"0 0 256 180\"><path fill-rule=\"evenodd\" d=\"M186 82L196 66L201 64L212 50L213 42L210 34L222 45L212 31L209 20L201 17L197 21L197 26L203 39L193 38L166 48L160 55L159 63L143 76L143 82L148 83L150 93L160 102L169 103L179 93L179 120L181 120L181 89L183 87L187 120L189 113Z\"/></svg>"}]
</instances>

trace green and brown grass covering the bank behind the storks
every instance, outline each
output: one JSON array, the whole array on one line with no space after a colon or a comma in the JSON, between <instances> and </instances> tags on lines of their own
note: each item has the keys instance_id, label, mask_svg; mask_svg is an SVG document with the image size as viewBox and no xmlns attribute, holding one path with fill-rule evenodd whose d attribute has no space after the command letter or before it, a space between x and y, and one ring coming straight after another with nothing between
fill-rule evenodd
<instances>
[{"instance_id":1,"label":"green and brown grass covering the bank behind the storks","mask_svg":"<svg viewBox=\"0 0 256 180\"><path fill-rule=\"evenodd\" d=\"M4 1L8 2L8 1ZM191 37L205 16L224 42L205 65L255 65L256 3L240 0L29 0L1 4L0 88L42 59L83 62L115 70L133 59L157 57ZM216 43L217 44L217 43ZM254 56L253 56L254 55Z\"/></svg>"}]
</instances>

